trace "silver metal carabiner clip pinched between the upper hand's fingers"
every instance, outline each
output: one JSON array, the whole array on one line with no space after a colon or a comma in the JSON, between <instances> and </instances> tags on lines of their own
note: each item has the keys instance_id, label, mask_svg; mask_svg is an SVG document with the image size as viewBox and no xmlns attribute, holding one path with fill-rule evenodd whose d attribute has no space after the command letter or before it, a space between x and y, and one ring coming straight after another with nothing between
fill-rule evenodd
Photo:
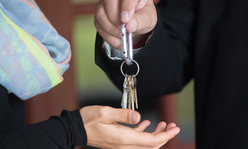
<instances>
[{"instance_id":1,"label":"silver metal carabiner clip pinched between the upper hand's fingers","mask_svg":"<svg viewBox=\"0 0 248 149\"><path fill-rule=\"evenodd\" d=\"M126 24L121 25L121 44L122 54L127 65L132 65L133 62L133 36L132 33L127 33Z\"/></svg>"}]
</instances>

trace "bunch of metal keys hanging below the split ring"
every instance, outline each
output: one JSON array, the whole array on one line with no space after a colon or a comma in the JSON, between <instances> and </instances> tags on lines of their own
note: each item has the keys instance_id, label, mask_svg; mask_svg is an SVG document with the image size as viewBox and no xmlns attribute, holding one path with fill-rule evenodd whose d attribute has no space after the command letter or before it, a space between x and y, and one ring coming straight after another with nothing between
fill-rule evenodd
<instances>
[{"instance_id":1,"label":"bunch of metal keys hanging below the split ring","mask_svg":"<svg viewBox=\"0 0 248 149\"><path fill-rule=\"evenodd\" d=\"M125 79L123 82L123 96L121 106L125 109L138 109L138 99L137 99L137 81L135 75L125 74Z\"/></svg>"}]
</instances>

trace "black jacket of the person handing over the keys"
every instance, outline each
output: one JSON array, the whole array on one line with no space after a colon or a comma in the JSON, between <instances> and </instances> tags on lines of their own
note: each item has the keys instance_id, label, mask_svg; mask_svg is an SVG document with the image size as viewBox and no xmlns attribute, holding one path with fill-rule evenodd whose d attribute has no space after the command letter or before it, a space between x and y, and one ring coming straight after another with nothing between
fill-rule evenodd
<instances>
[{"instance_id":1,"label":"black jacket of the person handing over the keys","mask_svg":"<svg viewBox=\"0 0 248 149\"><path fill-rule=\"evenodd\" d=\"M248 148L247 8L247 0L162 0L154 33L134 57L139 100L195 80L197 149ZM121 62L106 56L98 35L96 64L120 89Z\"/></svg>"}]
</instances>

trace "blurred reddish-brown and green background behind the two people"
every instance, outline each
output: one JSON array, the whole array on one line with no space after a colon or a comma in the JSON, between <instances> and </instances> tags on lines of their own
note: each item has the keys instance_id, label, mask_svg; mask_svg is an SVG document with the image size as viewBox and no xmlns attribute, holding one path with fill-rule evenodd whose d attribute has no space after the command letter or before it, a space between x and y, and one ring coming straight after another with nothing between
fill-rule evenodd
<instances>
[{"instance_id":1,"label":"blurred reddish-brown and green background behind the two people","mask_svg":"<svg viewBox=\"0 0 248 149\"><path fill-rule=\"evenodd\" d=\"M95 65L94 8L98 0L36 0L41 10L72 46L72 60L63 83L45 94L26 101L27 124L60 115L63 109L75 110L87 105L120 108L122 92ZM158 2L158 1L155 1ZM151 121L145 130L152 132L161 120L175 122L179 135L163 148L194 149L193 80L178 94L165 95L149 103L139 101L142 119ZM134 127L134 126L130 126ZM93 149L90 146L77 149Z\"/></svg>"}]
</instances>

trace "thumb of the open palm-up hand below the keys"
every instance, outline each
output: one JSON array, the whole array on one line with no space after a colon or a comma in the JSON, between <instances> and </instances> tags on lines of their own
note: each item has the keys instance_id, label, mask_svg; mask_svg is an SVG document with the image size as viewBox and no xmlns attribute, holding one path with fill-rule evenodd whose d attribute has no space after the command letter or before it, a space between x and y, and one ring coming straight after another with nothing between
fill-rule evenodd
<instances>
[{"instance_id":1,"label":"thumb of the open palm-up hand below the keys","mask_svg":"<svg viewBox=\"0 0 248 149\"><path fill-rule=\"evenodd\" d=\"M109 108L106 116L110 122L121 122L126 124L137 124L141 117L137 111L116 108Z\"/></svg>"}]
</instances>

